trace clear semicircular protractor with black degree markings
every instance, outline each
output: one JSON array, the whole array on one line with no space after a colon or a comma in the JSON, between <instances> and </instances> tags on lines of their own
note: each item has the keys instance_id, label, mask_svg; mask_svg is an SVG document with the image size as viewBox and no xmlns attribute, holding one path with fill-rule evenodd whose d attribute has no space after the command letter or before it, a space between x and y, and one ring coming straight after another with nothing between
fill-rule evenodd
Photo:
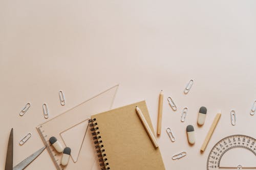
<instances>
[{"instance_id":1,"label":"clear semicircular protractor with black degree markings","mask_svg":"<svg viewBox=\"0 0 256 170\"><path fill-rule=\"evenodd\" d=\"M221 139L211 149L207 170L256 170L256 139L245 135L231 135Z\"/></svg>"}]
</instances>

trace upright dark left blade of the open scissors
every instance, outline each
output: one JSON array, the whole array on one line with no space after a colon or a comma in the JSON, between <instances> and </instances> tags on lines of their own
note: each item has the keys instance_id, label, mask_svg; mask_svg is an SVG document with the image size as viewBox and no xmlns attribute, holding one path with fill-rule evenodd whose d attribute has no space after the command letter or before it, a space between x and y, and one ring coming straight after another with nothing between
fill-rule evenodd
<instances>
[{"instance_id":1,"label":"upright dark left blade of the open scissors","mask_svg":"<svg viewBox=\"0 0 256 170\"><path fill-rule=\"evenodd\" d=\"M5 170L13 170L13 128L11 130L6 154Z\"/></svg>"}]
</instances>

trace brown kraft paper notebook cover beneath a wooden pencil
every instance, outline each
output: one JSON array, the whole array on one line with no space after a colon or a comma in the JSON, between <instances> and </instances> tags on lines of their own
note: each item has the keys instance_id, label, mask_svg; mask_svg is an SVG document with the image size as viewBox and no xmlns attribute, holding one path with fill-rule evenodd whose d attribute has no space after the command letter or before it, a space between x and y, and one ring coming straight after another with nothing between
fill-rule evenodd
<instances>
[{"instance_id":1,"label":"brown kraft paper notebook cover beneath a wooden pencil","mask_svg":"<svg viewBox=\"0 0 256 170\"><path fill-rule=\"evenodd\" d=\"M101 153L103 169L165 169L159 148L155 149L137 113L140 108L154 132L145 101L92 115L91 130ZM100 150L99 150L100 149Z\"/></svg>"}]
</instances>

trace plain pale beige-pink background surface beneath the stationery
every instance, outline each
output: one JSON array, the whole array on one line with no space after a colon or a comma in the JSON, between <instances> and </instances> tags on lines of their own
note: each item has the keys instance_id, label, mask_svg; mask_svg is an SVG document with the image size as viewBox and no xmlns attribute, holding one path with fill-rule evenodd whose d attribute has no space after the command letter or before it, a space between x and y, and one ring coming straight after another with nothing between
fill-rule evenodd
<instances>
[{"instance_id":1,"label":"plain pale beige-pink background surface beneath the stationery","mask_svg":"<svg viewBox=\"0 0 256 170\"><path fill-rule=\"evenodd\" d=\"M221 138L256 138L256 1L0 1L0 168L14 128L14 164L42 147L35 127L116 84L114 107L145 99L156 128L158 94L164 90L162 135L166 169L205 169L211 147ZM191 91L183 94L189 79ZM63 90L66 105L59 104ZM178 106L167 104L171 95ZM27 102L26 116L18 113ZM183 107L188 107L184 123ZM208 109L196 126L200 106ZM237 112L237 125L229 112ZM203 155L201 143L218 110L220 123ZM195 125L190 147L185 126ZM176 135L172 143L165 128ZM32 138L18 145L28 132ZM188 155L173 161L181 151ZM44 152L27 169L55 169Z\"/></svg>"}]
</instances>

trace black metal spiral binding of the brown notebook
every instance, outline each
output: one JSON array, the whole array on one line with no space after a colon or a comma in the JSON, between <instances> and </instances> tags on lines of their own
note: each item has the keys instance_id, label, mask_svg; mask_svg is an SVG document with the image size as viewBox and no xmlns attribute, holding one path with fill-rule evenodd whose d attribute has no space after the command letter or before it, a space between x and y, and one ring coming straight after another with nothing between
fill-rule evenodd
<instances>
[{"instance_id":1,"label":"black metal spiral binding of the brown notebook","mask_svg":"<svg viewBox=\"0 0 256 170\"><path fill-rule=\"evenodd\" d=\"M101 170L108 170L110 169L109 167L109 163L107 162L108 159L105 158L106 154L104 153L104 145L102 143L101 140L101 136L100 136L100 132L99 132L99 128L97 127L97 122L96 119L91 119L89 120L89 126L93 127L91 130L92 132L92 136L93 136L93 140L94 140L94 144L95 144L95 149L96 149L96 153L98 154L98 158L99 158L99 165L101 166Z\"/></svg>"}]
</instances>

